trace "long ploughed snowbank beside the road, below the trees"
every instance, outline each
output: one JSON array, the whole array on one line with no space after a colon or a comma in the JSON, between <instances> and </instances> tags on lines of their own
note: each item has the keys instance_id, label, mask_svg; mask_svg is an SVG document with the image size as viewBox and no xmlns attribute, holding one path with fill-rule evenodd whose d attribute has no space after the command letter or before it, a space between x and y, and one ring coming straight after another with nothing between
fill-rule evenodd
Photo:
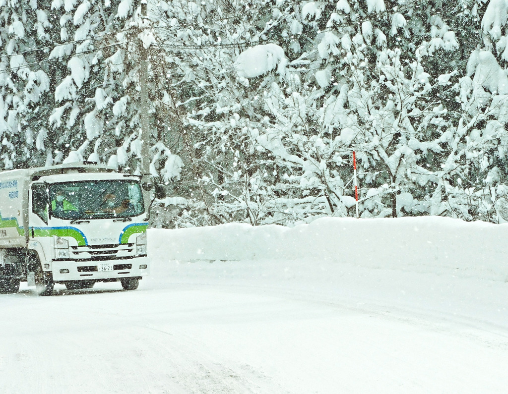
<instances>
[{"instance_id":1,"label":"long ploughed snowbank beside the road, below the trees","mask_svg":"<svg viewBox=\"0 0 508 394\"><path fill-rule=\"evenodd\" d=\"M447 217L322 218L293 228L232 223L151 229L149 237L151 257L166 261L304 259L496 281L508 274L508 224Z\"/></svg>"}]
</instances>

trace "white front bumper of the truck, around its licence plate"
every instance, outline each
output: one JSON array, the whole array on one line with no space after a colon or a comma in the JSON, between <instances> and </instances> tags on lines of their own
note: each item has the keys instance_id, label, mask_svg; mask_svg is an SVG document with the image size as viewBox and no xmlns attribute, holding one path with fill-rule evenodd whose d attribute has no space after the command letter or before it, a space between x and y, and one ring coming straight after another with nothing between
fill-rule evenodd
<instances>
[{"instance_id":1,"label":"white front bumper of the truck, around its licence plate","mask_svg":"<svg viewBox=\"0 0 508 394\"><path fill-rule=\"evenodd\" d=\"M100 265L110 263L111 271L100 271ZM146 268L145 268L146 267ZM147 256L107 261L53 260L50 271L53 281L93 280L97 282L120 280L121 278L143 277L149 274L150 263Z\"/></svg>"}]
</instances>

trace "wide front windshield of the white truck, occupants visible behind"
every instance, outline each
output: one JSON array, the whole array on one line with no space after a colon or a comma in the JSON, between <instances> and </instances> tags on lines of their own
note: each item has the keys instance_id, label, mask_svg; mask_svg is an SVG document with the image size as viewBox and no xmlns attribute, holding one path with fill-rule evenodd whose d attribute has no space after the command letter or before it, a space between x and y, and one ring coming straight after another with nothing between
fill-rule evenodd
<instances>
[{"instance_id":1,"label":"wide front windshield of the white truck, occupants visible behind","mask_svg":"<svg viewBox=\"0 0 508 394\"><path fill-rule=\"evenodd\" d=\"M49 186L51 216L60 219L107 219L144 212L138 181L97 180L53 183Z\"/></svg>"}]
</instances>

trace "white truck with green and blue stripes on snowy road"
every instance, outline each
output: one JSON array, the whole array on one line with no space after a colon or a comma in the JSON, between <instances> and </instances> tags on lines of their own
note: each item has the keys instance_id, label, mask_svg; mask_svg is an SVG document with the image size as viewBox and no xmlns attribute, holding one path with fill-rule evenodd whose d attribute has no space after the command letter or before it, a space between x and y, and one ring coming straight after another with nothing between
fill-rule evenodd
<instances>
[{"instance_id":1,"label":"white truck with green and blue stripes on snowy road","mask_svg":"<svg viewBox=\"0 0 508 394\"><path fill-rule=\"evenodd\" d=\"M92 163L0 172L0 292L50 295L148 274L140 179Z\"/></svg>"}]
</instances>

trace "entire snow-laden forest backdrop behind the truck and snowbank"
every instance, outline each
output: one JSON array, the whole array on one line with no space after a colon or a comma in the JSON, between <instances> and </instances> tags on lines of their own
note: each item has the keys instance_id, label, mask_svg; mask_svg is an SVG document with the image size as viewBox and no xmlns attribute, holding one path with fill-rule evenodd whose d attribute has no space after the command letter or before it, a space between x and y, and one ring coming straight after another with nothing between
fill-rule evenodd
<instances>
[{"instance_id":1,"label":"entire snow-laden forest backdrop behind the truck and snowbank","mask_svg":"<svg viewBox=\"0 0 508 394\"><path fill-rule=\"evenodd\" d=\"M504 222L499 0L0 0L4 169L139 171L149 63L157 226L441 215ZM161 203L162 204L162 203Z\"/></svg>"}]
</instances>

